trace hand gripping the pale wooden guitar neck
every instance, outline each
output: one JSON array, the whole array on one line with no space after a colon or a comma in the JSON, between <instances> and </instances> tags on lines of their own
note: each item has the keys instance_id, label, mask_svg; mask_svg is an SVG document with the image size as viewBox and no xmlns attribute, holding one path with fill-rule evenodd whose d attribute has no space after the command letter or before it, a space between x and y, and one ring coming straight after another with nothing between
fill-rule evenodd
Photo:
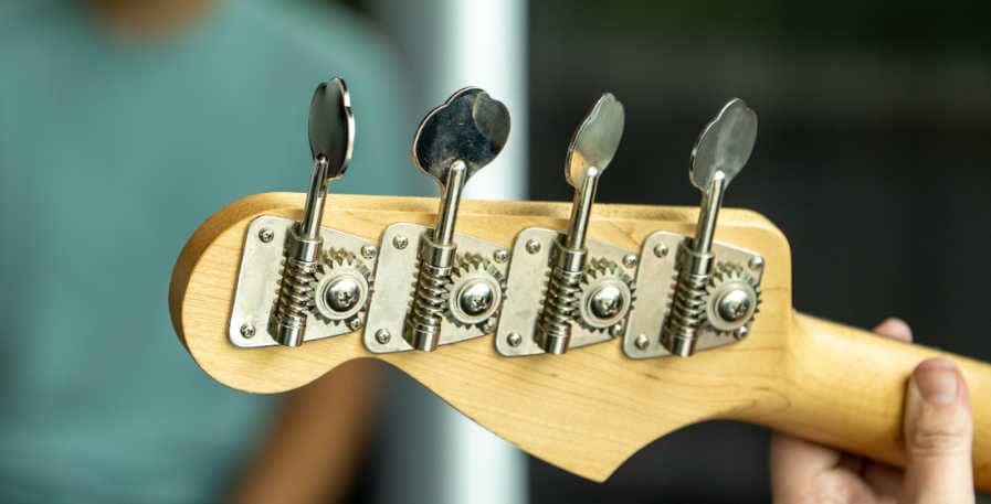
<instances>
[{"instance_id":1,"label":"hand gripping the pale wooden guitar neck","mask_svg":"<svg viewBox=\"0 0 991 504\"><path fill-rule=\"evenodd\" d=\"M888 319L877 334L911 342L908 324ZM771 491L778 504L973 504L973 419L967 384L943 358L920 363L908 382L904 471L776 433Z\"/></svg>"}]
</instances>

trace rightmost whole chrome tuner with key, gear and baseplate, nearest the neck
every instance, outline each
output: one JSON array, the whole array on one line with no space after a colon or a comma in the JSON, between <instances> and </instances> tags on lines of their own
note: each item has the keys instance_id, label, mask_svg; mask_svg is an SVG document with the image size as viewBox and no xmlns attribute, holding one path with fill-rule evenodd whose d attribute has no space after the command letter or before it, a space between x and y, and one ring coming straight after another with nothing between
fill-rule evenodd
<instances>
[{"instance_id":1,"label":"rightmost whole chrome tuner with key, gear and baseplate, nearest the neck","mask_svg":"<svg viewBox=\"0 0 991 504\"><path fill-rule=\"evenodd\" d=\"M668 309L630 318L623 341L628 356L687 357L749 332L760 302L763 258L713 237L726 187L749 160L756 139L757 115L741 99L726 104L703 129L688 171L703 196L695 235L656 232L644 240L639 293L645 303Z\"/></svg>"}]
</instances>

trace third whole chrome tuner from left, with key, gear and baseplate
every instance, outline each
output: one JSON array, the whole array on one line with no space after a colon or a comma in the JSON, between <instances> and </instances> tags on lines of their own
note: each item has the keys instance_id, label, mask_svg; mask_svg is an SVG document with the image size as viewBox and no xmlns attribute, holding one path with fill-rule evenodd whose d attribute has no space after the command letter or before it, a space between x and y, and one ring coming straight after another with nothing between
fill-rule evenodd
<instances>
[{"instance_id":1,"label":"third whole chrome tuner from left, with key, gear and baseplate","mask_svg":"<svg viewBox=\"0 0 991 504\"><path fill-rule=\"evenodd\" d=\"M565 176L574 199L566 232L527 228L517 235L514 291L496 333L503 355L563 354L622 334L637 257L587 235L599 178L619 148L623 124L623 105L602 95L568 147Z\"/></svg>"}]
</instances>

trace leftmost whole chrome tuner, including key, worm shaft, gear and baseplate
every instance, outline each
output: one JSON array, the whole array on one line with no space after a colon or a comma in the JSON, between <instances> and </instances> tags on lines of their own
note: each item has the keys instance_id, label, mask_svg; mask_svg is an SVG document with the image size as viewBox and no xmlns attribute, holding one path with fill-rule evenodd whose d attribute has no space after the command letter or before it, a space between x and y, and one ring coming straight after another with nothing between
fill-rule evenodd
<instances>
[{"instance_id":1,"label":"leftmost whole chrome tuner, including key, worm shaft, gear and baseplate","mask_svg":"<svg viewBox=\"0 0 991 504\"><path fill-rule=\"evenodd\" d=\"M355 143L340 78L314 92L308 133L313 172L303 218L262 215L247 226L228 332L235 346L299 346L365 324L378 248L320 226L330 181L344 175Z\"/></svg>"}]
</instances>

